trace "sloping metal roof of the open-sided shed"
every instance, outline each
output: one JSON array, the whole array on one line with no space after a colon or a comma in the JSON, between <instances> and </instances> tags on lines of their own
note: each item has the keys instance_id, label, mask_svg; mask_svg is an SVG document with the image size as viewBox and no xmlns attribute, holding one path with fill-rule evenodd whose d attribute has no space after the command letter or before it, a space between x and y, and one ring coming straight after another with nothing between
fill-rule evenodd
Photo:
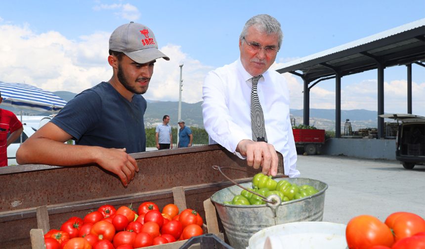
<instances>
[{"instance_id":1,"label":"sloping metal roof of the open-sided shed","mask_svg":"<svg viewBox=\"0 0 425 249\"><path fill-rule=\"evenodd\" d=\"M425 60L425 18L381 33L348 42L284 64L279 73L290 72L308 82ZM302 71L296 72L296 71Z\"/></svg>"}]
</instances>

